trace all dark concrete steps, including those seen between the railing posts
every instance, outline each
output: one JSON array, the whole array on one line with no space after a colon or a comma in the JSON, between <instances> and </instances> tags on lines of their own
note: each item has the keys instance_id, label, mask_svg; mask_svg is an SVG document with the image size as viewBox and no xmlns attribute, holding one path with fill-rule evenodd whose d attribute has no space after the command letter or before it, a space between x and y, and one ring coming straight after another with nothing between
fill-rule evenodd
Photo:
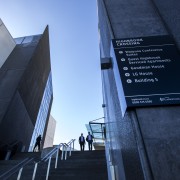
<instances>
[{"instance_id":1,"label":"all dark concrete steps, including those seen between the railing posts","mask_svg":"<svg viewBox=\"0 0 180 180\"><path fill-rule=\"evenodd\" d=\"M27 156L36 156L38 158L37 153L27 153ZM19 154L11 161L15 162L21 158L23 158L23 155ZM54 169L54 164L55 159L53 158L51 160L49 180L108 180L105 152L103 150L73 151L72 156L68 157L67 160L60 160L59 157L57 169ZM21 180L32 179L33 169L34 162L24 168ZM44 180L46 171L47 163L40 163L37 167L36 180ZM14 179L17 179L17 175L11 177L9 180Z\"/></svg>"}]
</instances>

